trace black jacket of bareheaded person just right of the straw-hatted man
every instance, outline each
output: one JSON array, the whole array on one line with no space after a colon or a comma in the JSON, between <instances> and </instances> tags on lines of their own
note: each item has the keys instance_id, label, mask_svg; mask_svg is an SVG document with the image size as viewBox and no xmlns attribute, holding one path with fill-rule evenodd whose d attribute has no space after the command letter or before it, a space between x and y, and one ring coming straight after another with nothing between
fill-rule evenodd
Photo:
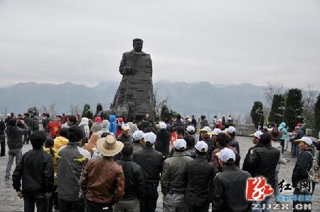
<instances>
[{"instance_id":1,"label":"black jacket of bareheaded person just right of the straw-hatted man","mask_svg":"<svg viewBox=\"0 0 320 212\"><path fill-rule=\"evenodd\" d=\"M117 161L122 166L124 172L124 196L122 200L129 201L140 199L144 191L144 173L142 168L132 158L122 157Z\"/></svg>"}]
</instances>

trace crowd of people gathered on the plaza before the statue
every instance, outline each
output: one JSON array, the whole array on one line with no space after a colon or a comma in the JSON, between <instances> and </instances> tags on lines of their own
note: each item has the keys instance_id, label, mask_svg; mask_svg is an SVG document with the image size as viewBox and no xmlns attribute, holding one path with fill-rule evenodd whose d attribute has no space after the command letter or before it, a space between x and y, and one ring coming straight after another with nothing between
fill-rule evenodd
<instances>
[{"instance_id":1,"label":"crowd of people gathered on the plaza before the statue","mask_svg":"<svg viewBox=\"0 0 320 212\"><path fill-rule=\"evenodd\" d=\"M9 113L0 121L1 157L8 157L4 180L23 198L25 211L36 205L43 212L152 212L159 185L166 212L269 211L263 205L271 195L262 201L246 199L247 179L265 177L277 196L280 164L289 162L282 157L288 140L285 123L251 135L242 167L231 116L225 123L215 116L209 126L206 116L198 123L194 116L180 115L154 123L146 114L137 123L135 116L124 120L111 115L97 116L90 124L86 117L42 114L40 124L43 130L36 113ZM275 139L275 130L281 137ZM294 194L305 194L298 184L308 179L314 146L299 125L289 140L292 157L297 157ZM22 155L29 142L32 150ZM313 191L314 183L309 194Z\"/></svg>"}]
</instances>

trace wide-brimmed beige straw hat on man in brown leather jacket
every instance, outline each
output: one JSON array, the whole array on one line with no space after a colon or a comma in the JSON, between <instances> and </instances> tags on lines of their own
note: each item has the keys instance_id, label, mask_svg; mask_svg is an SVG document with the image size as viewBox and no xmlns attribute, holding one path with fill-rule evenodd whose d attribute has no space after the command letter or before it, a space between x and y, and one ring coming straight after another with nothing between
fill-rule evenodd
<instances>
[{"instance_id":1,"label":"wide-brimmed beige straw hat on man in brown leather jacket","mask_svg":"<svg viewBox=\"0 0 320 212\"><path fill-rule=\"evenodd\" d=\"M114 135L107 135L97 140L97 150L106 157L112 157L121 152L123 143L118 141Z\"/></svg>"}]
</instances>

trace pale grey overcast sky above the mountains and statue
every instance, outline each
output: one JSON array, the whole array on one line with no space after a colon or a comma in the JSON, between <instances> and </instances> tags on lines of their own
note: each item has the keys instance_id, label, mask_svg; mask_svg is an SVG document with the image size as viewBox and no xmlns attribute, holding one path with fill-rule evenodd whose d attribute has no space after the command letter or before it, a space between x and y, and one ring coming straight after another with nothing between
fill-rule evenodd
<instances>
[{"instance_id":1,"label":"pale grey overcast sky above the mountains and statue","mask_svg":"<svg viewBox=\"0 0 320 212\"><path fill-rule=\"evenodd\" d=\"M95 85L144 40L154 81L320 85L320 1L0 0L0 85Z\"/></svg>"}]
</instances>

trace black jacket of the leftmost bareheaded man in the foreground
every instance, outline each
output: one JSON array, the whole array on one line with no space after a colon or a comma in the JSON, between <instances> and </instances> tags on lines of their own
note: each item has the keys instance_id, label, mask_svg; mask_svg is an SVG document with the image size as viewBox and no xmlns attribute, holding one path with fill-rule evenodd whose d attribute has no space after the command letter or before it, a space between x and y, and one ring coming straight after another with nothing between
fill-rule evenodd
<instances>
[{"instance_id":1,"label":"black jacket of the leftmost bareheaded man in the foreground","mask_svg":"<svg viewBox=\"0 0 320 212\"><path fill-rule=\"evenodd\" d=\"M16 191L51 192L53 189L53 161L44 150L29 150L22 155L12 180Z\"/></svg>"}]
</instances>

